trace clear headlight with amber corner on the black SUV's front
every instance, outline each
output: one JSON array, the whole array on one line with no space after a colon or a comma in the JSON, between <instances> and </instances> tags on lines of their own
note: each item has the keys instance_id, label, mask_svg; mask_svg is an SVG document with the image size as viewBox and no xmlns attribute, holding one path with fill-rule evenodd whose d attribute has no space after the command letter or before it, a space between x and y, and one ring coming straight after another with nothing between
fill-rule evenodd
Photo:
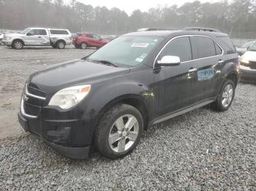
<instances>
[{"instance_id":1,"label":"clear headlight with amber corner on the black SUV's front","mask_svg":"<svg viewBox=\"0 0 256 191\"><path fill-rule=\"evenodd\" d=\"M78 85L64 88L53 95L50 99L49 106L59 106L61 109L69 109L82 101L90 90L91 85Z\"/></svg>"}]
</instances>

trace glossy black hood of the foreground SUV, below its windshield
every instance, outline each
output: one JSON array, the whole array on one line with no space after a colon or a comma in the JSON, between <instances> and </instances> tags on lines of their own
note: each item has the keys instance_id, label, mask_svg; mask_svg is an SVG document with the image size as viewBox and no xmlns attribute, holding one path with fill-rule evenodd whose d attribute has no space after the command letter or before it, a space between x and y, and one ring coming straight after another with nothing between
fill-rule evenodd
<instances>
[{"instance_id":1,"label":"glossy black hood of the foreground SUV, below its windshield","mask_svg":"<svg viewBox=\"0 0 256 191\"><path fill-rule=\"evenodd\" d=\"M48 69L37 71L31 74L28 84L32 83L40 90L49 93L49 89L56 91L72 85L94 84L118 75L128 74L129 71L129 68L107 66L81 59L59 63Z\"/></svg>"}]
</instances>

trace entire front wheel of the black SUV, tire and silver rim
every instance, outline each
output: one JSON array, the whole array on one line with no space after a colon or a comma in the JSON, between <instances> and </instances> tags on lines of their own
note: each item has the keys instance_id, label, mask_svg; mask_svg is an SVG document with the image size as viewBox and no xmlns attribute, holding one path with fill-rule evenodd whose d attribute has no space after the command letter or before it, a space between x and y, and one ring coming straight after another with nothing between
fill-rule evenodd
<instances>
[{"instance_id":1,"label":"entire front wheel of the black SUV, tire and silver rim","mask_svg":"<svg viewBox=\"0 0 256 191\"><path fill-rule=\"evenodd\" d=\"M125 127L129 122L134 125ZM143 117L138 109L127 104L119 104L109 109L102 117L94 141L103 157L118 159L135 149L142 132Z\"/></svg>"}]
</instances>

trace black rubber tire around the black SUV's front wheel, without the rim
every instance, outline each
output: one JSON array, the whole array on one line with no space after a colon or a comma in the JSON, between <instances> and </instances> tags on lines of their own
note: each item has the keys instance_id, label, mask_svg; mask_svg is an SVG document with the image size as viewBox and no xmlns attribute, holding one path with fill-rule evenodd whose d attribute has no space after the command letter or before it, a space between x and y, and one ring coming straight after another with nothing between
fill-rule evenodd
<instances>
[{"instance_id":1,"label":"black rubber tire around the black SUV's front wheel, without the rim","mask_svg":"<svg viewBox=\"0 0 256 191\"><path fill-rule=\"evenodd\" d=\"M102 153L103 156L116 159L119 157L124 157L125 155L128 155L130 152L132 152L133 149L138 145L138 142L140 141L140 136L143 133L143 117L138 111L138 109L135 109L133 106L129 106L126 104L116 106L117 109L110 110L106 115L110 114L111 117L104 116L102 117L102 120L99 124L99 131L97 136L97 149L99 149L99 152ZM127 151L124 152L114 152L108 143L108 136L110 133L110 129L113 126L113 123L118 119L118 117L121 117L125 114L132 114L136 119L138 120L139 124L139 132L138 137L135 141L135 143L127 149Z\"/></svg>"}]
</instances>

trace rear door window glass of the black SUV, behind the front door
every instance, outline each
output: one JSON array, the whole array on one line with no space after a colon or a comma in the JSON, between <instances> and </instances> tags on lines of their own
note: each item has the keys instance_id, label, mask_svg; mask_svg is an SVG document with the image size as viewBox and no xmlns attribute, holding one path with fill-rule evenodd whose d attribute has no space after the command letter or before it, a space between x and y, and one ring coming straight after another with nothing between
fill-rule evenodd
<instances>
[{"instance_id":1,"label":"rear door window glass of the black SUV, behind the front door","mask_svg":"<svg viewBox=\"0 0 256 191\"><path fill-rule=\"evenodd\" d=\"M191 36L193 59L216 55L214 41L206 36Z\"/></svg>"}]
</instances>

